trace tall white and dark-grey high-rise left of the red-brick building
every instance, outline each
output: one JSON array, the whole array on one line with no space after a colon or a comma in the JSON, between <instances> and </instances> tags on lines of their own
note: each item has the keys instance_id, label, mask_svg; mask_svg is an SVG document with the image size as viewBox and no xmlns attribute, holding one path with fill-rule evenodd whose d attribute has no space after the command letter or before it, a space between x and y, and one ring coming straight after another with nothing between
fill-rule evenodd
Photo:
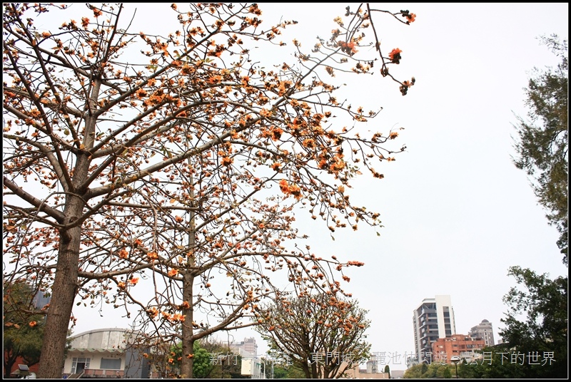
<instances>
[{"instance_id":1,"label":"tall white and dark-grey high-rise left of the red-brick building","mask_svg":"<svg viewBox=\"0 0 571 382\"><path fill-rule=\"evenodd\" d=\"M438 295L424 299L413 311L416 361L430 361L434 341L456 334L454 310L450 295Z\"/></svg>"}]
</instances>

